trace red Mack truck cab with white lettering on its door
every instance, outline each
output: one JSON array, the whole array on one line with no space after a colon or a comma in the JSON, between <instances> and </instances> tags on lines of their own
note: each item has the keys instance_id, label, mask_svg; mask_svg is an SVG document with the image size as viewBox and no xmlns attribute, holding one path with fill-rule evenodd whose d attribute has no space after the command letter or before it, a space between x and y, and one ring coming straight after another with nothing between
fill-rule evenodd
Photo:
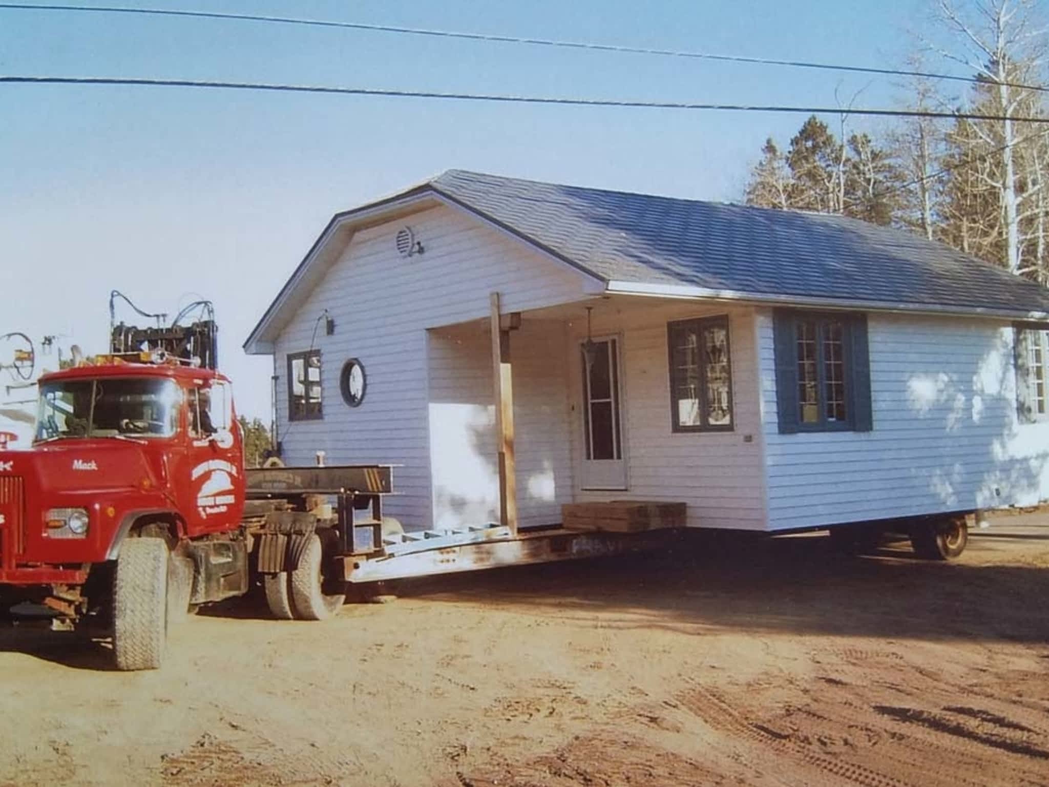
<instances>
[{"instance_id":1,"label":"red Mack truck cab with white lettering on its door","mask_svg":"<svg viewBox=\"0 0 1049 787\"><path fill-rule=\"evenodd\" d=\"M167 604L189 603L194 563L215 562L216 552L236 574L227 584L242 590L247 549L223 540L236 535L244 504L242 435L224 376L163 353L124 354L45 375L38 390L31 446L0 450L6 601L33 600L69 620L112 618L120 661L112 596L129 549L150 552L127 559L153 566L137 573L166 574L164 598L150 601L166 605L165 624Z\"/></svg>"}]
</instances>

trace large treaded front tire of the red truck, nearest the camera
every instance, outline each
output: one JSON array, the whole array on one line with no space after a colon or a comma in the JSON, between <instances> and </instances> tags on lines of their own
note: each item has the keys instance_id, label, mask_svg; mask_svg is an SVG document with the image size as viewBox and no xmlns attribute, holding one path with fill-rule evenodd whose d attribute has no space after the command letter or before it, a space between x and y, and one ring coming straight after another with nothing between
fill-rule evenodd
<instances>
[{"instance_id":1,"label":"large treaded front tire of the red truck, nearest the camera","mask_svg":"<svg viewBox=\"0 0 1049 787\"><path fill-rule=\"evenodd\" d=\"M113 656L117 669L156 669L168 638L168 545L128 538L113 580Z\"/></svg>"}]
</instances>

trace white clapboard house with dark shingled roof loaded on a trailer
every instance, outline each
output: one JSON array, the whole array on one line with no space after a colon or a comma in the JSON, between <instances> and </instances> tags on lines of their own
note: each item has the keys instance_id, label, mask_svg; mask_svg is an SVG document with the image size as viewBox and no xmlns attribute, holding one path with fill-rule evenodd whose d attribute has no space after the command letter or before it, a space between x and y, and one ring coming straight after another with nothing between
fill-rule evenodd
<instances>
[{"instance_id":1,"label":"white clapboard house with dark shingled roof loaded on a trailer","mask_svg":"<svg viewBox=\"0 0 1049 787\"><path fill-rule=\"evenodd\" d=\"M499 519L509 421L521 527L783 531L1049 498L1044 327L1049 291L909 233L449 171L337 214L244 347L285 461L401 465L409 529Z\"/></svg>"}]
</instances>

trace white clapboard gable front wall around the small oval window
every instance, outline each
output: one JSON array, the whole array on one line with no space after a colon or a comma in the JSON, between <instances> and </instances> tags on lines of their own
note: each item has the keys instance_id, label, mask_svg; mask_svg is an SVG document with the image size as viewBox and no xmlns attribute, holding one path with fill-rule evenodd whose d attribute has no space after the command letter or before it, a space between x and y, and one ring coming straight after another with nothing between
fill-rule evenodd
<instances>
[{"instance_id":1,"label":"white clapboard gable front wall around the small oval window","mask_svg":"<svg viewBox=\"0 0 1049 787\"><path fill-rule=\"evenodd\" d=\"M424 254L398 254L394 236L405 225ZM275 343L285 461L313 464L323 450L328 464L402 465L386 511L406 528L430 527L427 328L487 318L493 291L511 312L576 300L583 286L581 274L450 208L359 232ZM335 319L333 336L323 321L318 325L325 309ZM288 423L286 357L311 346L321 350L324 418ZM339 392L347 358L359 358L367 370L367 395L357 408Z\"/></svg>"}]
</instances>

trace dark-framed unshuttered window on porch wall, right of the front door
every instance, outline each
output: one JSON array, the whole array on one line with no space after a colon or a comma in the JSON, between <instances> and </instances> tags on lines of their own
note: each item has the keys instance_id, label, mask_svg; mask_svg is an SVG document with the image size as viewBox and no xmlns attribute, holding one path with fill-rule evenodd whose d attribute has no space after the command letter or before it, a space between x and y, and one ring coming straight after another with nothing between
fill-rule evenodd
<instances>
[{"instance_id":1,"label":"dark-framed unshuttered window on porch wall, right of the front door","mask_svg":"<svg viewBox=\"0 0 1049 787\"><path fill-rule=\"evenodd\" d=\"M732 429L728 317L667 325L670 421L675 431Z\"/></svg>"}]
</instances>

